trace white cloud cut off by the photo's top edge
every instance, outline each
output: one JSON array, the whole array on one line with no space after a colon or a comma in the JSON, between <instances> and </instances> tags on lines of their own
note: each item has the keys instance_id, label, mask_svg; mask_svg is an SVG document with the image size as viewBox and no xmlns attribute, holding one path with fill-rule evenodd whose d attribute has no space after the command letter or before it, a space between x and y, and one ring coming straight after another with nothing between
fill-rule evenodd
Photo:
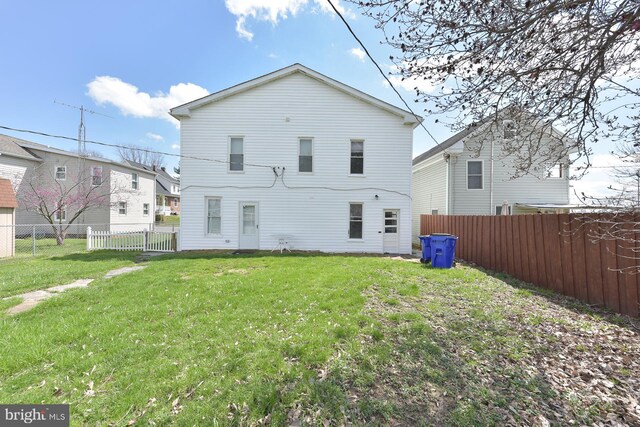
<instances>
[{"instance_id":1,"label":"white cloud cut off by the photo's top edge","mask_svg":"<svg viewBox=\"0 0 640 427\"><path fill-rule=\"evenodd\" d=\"M227 10L236 16L236 32L238 36L248 41L253 39L253 33L246 27L247 18L258 21L268 21L276 25L281 19L295 16L310 0L225 0ZM322 12L334 13L326 0L312 0ZM340 5L340 0L333 2L340 13L350 19L355 14Z\"/></svg>"}]
</instances>

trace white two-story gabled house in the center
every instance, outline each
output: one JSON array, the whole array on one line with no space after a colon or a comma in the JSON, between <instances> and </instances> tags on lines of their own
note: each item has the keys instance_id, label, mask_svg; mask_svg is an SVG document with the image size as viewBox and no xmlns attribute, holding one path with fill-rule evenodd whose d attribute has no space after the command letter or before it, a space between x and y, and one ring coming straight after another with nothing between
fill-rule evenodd
<instances>
[{"instance_id":1,"label":"white two-story gabled house in the center","mask_svg":"<svg viewBox=\"0 0 640 427\"><path fill-rule=\"evenodd\" d=\"M410 112L295 64L171 114L183 250L410 253Z\"/></svg>"}]
</instances>

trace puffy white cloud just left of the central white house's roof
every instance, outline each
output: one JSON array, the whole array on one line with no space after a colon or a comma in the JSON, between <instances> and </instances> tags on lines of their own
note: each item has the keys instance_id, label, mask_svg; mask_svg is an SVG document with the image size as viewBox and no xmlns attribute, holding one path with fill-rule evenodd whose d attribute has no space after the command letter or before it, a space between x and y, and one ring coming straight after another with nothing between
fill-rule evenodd
<instances>
[{"instance_id":1,"label":"puffy white cloud just left of the central white house's roof","mask_svg":"<svg viewBox=\"0 0 640 427\"><path fill-rule=\"evenodd\" d=\"M196 84L178 83L171 86L168 93L151 95L111 76L98 76L87 84L87 88L87 94L98 105L111 104L125 116L160 118L175 125L178 122L169 115L171 108L209 94Z\"/></svg>"}]
</instances>

